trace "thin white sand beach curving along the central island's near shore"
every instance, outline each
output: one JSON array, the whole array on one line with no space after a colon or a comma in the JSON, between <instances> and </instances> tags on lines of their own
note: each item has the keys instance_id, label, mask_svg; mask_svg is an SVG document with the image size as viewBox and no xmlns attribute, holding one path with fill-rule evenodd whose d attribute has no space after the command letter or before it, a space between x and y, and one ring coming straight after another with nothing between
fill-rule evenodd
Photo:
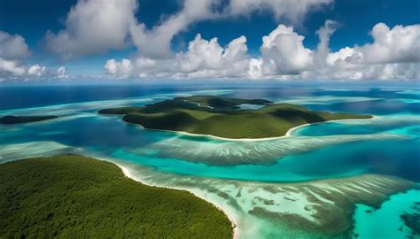
<instances>
[{"instance_id":1,"label":"thin white sand beach curving along the central island's near shore","mask_svg":"<svg viewBox=\"0 0 420 239\"><path fill-rule=\"evenodd\" d=\"M266 137L266 138L255 138L255 139L253 139L253 138L238 138L238 139L235 139L235 138L225 138L225 137L214 136L214 135L201 135L201 134L194 134L194 133L189 133L189 132L185 132L185 131L148 128L148 127L144 127L140 124L130 123L130 122L127 122L127 121L124 121L124 122L129 124L129 125L134 125L136 127L142 127L143 129L146 129L146 130L160 131L160 132L170 132L170 133L175 133L176 135L187 135L187 136L192 136L192 137L207 137L207 138L210 138L210 139L223 140L223 141L258 142L258 141L276 140L276 139L289 137L289 136L292 135L292 132L294 130L298 129L299 127L306 127L306 126L310 126L310 125L317 125L317 124L323 124L323 123L328 123L328 122L349 121L349 120L374 120L374 119L377 119L377 118L379 118L379 117L377 117L376 115L372 115L372 118L369 118L369 119L326 120L326 121L322 121L322 122L307 123L307 124L299 125L297 127L292 127L289 130L287 130L287 132L284 135L281 135L281 136Z\"/></svg>"}]
</instances>

